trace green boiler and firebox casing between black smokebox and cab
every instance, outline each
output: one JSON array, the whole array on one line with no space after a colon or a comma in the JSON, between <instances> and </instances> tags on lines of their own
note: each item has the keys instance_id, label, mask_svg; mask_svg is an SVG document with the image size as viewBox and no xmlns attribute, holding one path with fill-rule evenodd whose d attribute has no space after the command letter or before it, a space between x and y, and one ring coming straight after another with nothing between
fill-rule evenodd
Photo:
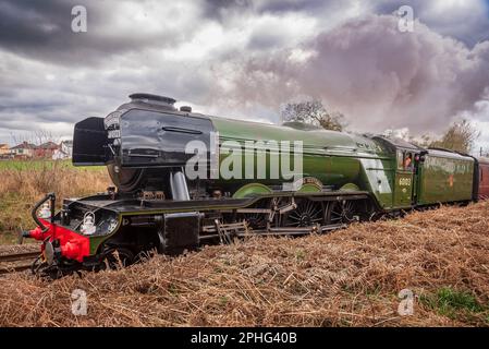
<instances>
[{"instance_id":1,"label":"green boiler and firebox casing between black smokebox and cab","mask_svg":"<svg viewBox=\"0 0 489 349\"><path fill-rule=\"evenodd\" d=\"M344 132L334 132L327 130L303 131L289 127L279 127L273 124L246 122L242 120L231 120L222 118L211 118L211 121L219 132L219 143L221 154L219 161L222 166L223 160L235 155L234 151L245 154L246 142L262 141L290 141L291 153L293 152L293 141L303 142L303 176L313 177L322 182L331 190L356 188L357 190L368 191L386 209L392 208L393 184L395 171L390 170L395 166L395 156L383 147L380 143ZM231 142L231 143L230 143ZM229 154L222 154L222 145L229 145ZM253 173L245 173L245 156L242 156L242 180L220 178L219 185L236 185L237 188L249 182L259 182L270 185L279 185L284 182L292 182L290 178L280 176L272 179L270 168L267 166L266 177L259 178L257 174L257 164L266 160L270 164L270 154L279 157L276 149L266 153L259 153L264 146L258 144L252 148L255 169ZM249 151L249 147L248 147ZM236 157L237 158L237 157ZM290 159L291 168L294 168L293 155ZM282 174L282 173L280 173ZM380 184L379 184L380 181ZM353 185L353 186L352 186ZM307 190L304 189L304 190Z\"/></svg>"}]
</instances>

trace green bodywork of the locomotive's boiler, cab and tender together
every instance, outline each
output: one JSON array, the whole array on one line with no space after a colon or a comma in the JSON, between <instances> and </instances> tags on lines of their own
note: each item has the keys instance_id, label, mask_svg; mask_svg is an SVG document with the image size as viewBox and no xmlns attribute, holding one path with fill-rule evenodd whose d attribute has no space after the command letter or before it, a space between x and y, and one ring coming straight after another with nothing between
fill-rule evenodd
<instances>
[{"instance_id":1,"label":"green bodywork of the locomotive's boiler, cab and tender together","mask_svg":"<svg viewBox=\"0 0 489 349\"><path fill-rule=\"evenodd\" d=\"M429 205L438 202L469 201L473 195L474 160L456 153L430 149L426 161L419 164L416 172L412 168L398 167L398 152L411 153L419 156L421 148L406 144L406 148L387 146L376 139L357 136L344 132L326 130L297 130L290 127L246 122L211 118L219 132L219 143L222 148L224 142L232 142L230 154L220 154L220 164L233 156L233 151L245 153L245 142L256 141L302 141L303 142L303 176L313 177L331 190L347 190L350 188L368 191L377 200L382 209L411 208L413 205ZM255 167L266 157L270 164L270 154L280 158L279 152L269 151L267 155L257 155L253 148ZM291 146L292 152L292 146ZM260 159L261 157L261 159ZM241 157L242 159L244 157ZM293 159L290 159L291 168ZM242 178L246 178L245 160L242 160ZM258 178L257 171L250 173L249 179L236 180L221 178L220 185L236 185L237 188L250 182L272 186L292 181L289 178L272 179L267 166L265 178ZM280 173L282 174L282 173ZM451 185L450 176L453 176ZM306 190L306 189L304 189Z\"/></svg>"}]
</instances>

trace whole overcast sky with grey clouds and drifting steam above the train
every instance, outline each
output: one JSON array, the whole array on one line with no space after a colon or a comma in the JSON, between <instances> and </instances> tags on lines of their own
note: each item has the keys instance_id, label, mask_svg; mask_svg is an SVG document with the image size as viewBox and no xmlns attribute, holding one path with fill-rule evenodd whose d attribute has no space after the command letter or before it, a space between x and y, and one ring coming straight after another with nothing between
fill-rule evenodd
<instances>
[{"instance_id":1,"label":"whole overcast sky with grey clouds and drifting steam above the train","mask_svg":"<svg viewBox=\"0 0 489 349\"><path fill-rule=\"evenodd\" d=\"M489 1L0 0L0 143L69 137L135 92L270 122L320 98L354 131L437 134L466 117L489 147Z\"/></svg>"}]
</instances>

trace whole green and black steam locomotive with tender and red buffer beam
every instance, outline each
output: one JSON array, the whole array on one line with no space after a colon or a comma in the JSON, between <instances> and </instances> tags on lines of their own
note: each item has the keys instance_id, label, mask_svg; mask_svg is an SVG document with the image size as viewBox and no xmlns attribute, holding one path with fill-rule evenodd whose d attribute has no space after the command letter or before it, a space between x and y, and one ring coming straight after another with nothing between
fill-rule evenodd
<instances>
[{"instance_id":1,"label":"whole green and black steam locomotive with tender and red buffer beam","mask_svg":"<svg viewBox=\"0 0 489 349\"><path fill-rule=\"evenodd\" d=\"M322 233L489 194L489 161L468 155L294 122L216 118L178 110L169 97L130 97L107 118L75 125L74 165L107 166L115 186L65 198L58 213L54 194L34 207L38 227L24 236L42 241L36 270L100 269L149 251L178 254L252 233ZM294 141L302 142L301 164L289 155ZM198 153L190 145L203 149L198 177L188 176ZM301 180L277 171L277 159L301 165ZM224 165L237 176L225 174Z\"/></svg>"}]
</instances>

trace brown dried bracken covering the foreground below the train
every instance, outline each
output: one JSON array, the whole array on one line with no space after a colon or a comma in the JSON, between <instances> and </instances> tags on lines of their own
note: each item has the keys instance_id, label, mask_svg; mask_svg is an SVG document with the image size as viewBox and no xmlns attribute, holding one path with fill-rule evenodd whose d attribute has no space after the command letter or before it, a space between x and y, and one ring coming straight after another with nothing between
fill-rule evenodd
<instances>
[{"instance_id":1,"label":"brown dried bracken covering the foreground below the train","mask_svg":"<svg viewBox=\"0 0 489 349\"><path fill-rule=\"evenodd\" d=\"M488 326L488 251L489 203L443 207L56 281L8 275L0 326ZM403 289L412 315L398 313Z\"/></svg>"}]
</instances>

